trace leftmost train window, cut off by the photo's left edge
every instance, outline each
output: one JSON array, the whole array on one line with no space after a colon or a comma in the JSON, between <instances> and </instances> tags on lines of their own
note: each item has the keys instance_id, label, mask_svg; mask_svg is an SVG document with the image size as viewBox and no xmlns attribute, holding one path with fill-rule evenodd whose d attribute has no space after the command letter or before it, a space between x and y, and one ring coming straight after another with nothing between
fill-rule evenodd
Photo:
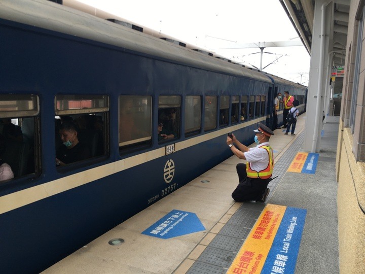
<instances>
[{"instance_id":1,"label":"leftmost train window, cut off by the photo's left edge","mask_svg":"<svg viewBox=\"0 0 365 274\"><path fill-rule=\"evenodd\" d=\"M39 132L37 95L0 94L0 184L41 173Z\"/></svg>"}]
</instances>

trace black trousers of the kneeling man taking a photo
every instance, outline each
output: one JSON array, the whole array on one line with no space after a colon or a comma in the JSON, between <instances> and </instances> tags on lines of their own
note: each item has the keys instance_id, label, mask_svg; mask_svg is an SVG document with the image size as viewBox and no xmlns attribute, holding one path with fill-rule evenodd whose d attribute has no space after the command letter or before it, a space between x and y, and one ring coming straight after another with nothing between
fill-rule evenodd
<instances>
[{"instance_id":1,"label":"black trousers of the kneeling man taking a photo","mask_svg":"<svg viewBox=\"0 0 365 274\"><path fill-rule=\"evenodd\" d=\"M247 178L246 165L239 163L236 165L239 184L232 192L235 201L257 201L261 200L265 189L271 181L270 179Z\"/></svg>"}]
</instances>

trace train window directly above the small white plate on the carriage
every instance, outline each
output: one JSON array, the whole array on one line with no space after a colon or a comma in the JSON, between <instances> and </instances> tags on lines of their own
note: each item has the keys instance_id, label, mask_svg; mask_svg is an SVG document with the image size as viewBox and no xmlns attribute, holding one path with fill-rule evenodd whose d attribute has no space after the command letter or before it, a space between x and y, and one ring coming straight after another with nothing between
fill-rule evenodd
<instances>
[{"instance_id":1,"label":"train window directly above the small white plate on the carriage","mask_svg":"<svg viewBox=\"0 0 365 274\"><path fill-rule=\"evenodd\" d=\"M180 109L180 96L159 96L158 124L162 125L162 130L158 134L159 142L170 141L180 136ZM165 138L161 134L166 134L171 137Z\"/></svg>"}]
</instances>

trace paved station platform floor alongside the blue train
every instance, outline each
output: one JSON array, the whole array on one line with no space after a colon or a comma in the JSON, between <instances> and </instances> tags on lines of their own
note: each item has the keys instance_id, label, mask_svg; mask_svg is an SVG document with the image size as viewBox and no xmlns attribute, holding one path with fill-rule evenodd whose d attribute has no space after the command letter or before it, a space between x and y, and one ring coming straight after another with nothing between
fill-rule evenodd
<instances>
[{"instance_id":1,"label":"paved station platform floor alongside the blue train","mask_svg":"<svg viewBox=\"0 0 365 274\"><path fill-rule=\"evenodd\" d=\"M265 209L276 206L306 214L298 252L291 260L294 266L284 267L281 261L282 267L271 272L339 273L335 170L339 117L326 119L315 173L289 172L302 149L305 119L305 114L298 117L295 136L276 129L270 138L277 178L268 186L265 203L232 199L238 184L236 164L243 162L233 155L43 273L260 273L246 271L242 264L232 270L232 265L242 256L242 247ZM194 213L204 229L170 238L142 234L174 211ZM117 245L109 244L113 241Z\"/></svg>"}]
</instances>

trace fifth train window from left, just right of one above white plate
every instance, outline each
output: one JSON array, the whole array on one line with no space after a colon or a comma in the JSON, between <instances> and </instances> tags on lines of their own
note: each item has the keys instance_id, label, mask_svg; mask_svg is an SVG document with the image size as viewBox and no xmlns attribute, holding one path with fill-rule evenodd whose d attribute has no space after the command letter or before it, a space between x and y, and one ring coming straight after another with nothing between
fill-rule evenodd
<instances>
[{"instance_id":1,"label":"fifth train window from left, just right of one above white plate","mask_svg":"<svg viewBox=\"0 0 365 274\"><path fill-rule=\"evenodd\" d=\"M201 128L201 97L185 97L185 136L198 134Z\"/></svg>"}]
</instances>

